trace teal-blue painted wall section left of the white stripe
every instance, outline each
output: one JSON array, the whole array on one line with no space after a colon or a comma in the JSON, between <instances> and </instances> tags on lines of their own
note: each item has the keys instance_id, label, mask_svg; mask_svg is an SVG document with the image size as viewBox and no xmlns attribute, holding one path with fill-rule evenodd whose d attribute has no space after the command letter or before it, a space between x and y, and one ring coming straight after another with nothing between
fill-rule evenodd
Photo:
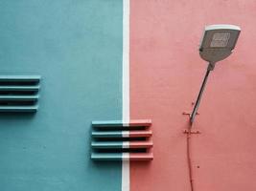
<instances>
[{"instance_id":1,"label":"teal-blue painted wall section left of the white stripe","mask_svg":"<svg viewBox=\"0 0 256 191\"><path fill-rule=\"evenodd\" d=\"M0 74L40 74L35 115L0 114L0 190L120 190L90 122L122 117L122 1L0 1ZM107 186L106 186L107 185Z\"/></svg>"}]
</instances>

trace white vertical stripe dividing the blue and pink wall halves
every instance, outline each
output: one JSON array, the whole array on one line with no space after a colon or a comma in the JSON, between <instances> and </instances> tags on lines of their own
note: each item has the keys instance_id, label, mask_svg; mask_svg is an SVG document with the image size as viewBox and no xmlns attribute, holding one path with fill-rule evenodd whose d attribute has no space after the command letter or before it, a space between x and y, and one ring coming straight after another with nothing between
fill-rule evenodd
<instances>
[{"instance_id":1,"label":"white vertical stripe dividing the blue and pink wall halves","mask_svg":"<svg viewBox=\"0 0 256 191\"><path fill-rule=\"evenodd\" d=\"M129 121L129 0L123 0L123 120ZM122 161L122 191L129 191L128 154Z\"/></svg>"}]
</instances>

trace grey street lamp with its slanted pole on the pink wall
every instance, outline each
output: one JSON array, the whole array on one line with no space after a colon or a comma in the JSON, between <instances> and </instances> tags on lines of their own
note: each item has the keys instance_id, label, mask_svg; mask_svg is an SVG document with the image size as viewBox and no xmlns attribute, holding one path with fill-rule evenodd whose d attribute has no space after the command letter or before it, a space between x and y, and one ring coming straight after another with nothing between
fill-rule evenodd
<instances>
[{"instance_id":1,"label":"grey street lamp with its slanted pole on the pink wall","mask_svg":"<svg viewBox=\"0 0 256 191\"><path fill-rule=\"evenodd\" d=\"M198 112L198 106L208 75L214 70L216 62L225 59L232 53L240 32L240 27L235 25L209 25L205 27L199 47L199 54L202 59L208 62L208 67L200 87L196 104L190 116L191 124L194 122Z\"/></svg>"}]
</instances>

